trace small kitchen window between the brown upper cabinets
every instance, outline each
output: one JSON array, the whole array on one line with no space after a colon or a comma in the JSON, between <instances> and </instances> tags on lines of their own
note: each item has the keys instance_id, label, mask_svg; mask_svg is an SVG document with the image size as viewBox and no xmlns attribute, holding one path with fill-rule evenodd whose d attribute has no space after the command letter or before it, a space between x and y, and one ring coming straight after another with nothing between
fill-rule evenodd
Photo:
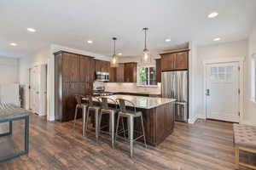
<instances>
[{"instance_id":1,"label":"small kitchen window between the brown upper cabinets","mask_svg":"<svg viewBox=\"0 0 256 170\"><path fill-rule=\"evenodd\" d=\"M156 86L156 69L152 67L138 67L137 70L138 86Z\"/></svg>"}]
</instances>

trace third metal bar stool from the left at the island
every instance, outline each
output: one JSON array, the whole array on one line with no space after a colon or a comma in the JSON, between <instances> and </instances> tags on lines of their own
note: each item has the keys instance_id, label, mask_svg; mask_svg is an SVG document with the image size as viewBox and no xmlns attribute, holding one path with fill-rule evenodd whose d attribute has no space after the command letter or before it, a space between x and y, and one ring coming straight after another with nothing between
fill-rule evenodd
<instances>
[{"instance_id":1,"label":"third metal bar stool from the left at the island","mask_svg":"<svg viewBox=\"0 0 256 170\"><path fill-rule=\"evenodd\" d=\"M118 112L117 103L114 99L110 99L107 97L99 98L102 101L102 109L99 117L99 128L100 132L103 127L101 127L102 123L102 115L108 114L109 115L109 135L111 136L112 148L114 148L114 117L115 113ZM115 108L109 107L109 103L115 105Z\"/></svg>"}]
</instances>

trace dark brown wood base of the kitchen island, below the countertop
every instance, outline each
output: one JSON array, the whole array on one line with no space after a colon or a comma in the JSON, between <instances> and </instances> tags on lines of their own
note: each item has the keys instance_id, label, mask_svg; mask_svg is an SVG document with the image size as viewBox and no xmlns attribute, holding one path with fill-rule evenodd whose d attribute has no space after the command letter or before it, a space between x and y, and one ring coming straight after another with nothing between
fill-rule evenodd
<instances>
[{"instance_id":1,"label":"dark brown wood base of the kitchen island, below the countertop","mask_svg":"<svg viewBox=\"0 0 256 170\"><path fill-rule=\"evenodd\" d=\"M174 102L160 105L153 109L140 109L143 111L143 121L147 143L157 146L168 137L174 128ZM136 121L135 128L142 132L141 123ZM143 139L140 139L143 142Z\"/></svg>"}]
</instances>

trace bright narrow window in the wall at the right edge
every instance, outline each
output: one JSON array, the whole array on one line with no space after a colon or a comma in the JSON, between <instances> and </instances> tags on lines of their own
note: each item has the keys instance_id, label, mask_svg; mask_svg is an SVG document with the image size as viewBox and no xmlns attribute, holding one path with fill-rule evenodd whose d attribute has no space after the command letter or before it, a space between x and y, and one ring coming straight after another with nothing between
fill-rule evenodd
<instances>
[{"instance_id":1,"label":"bright narrow window in the wall at the right edge","mask_svg":"<svg viewBox=\"0 0 256 170\"><path fill-rule=\"evenodd\" d=\"M251 99L256 102L256 54L252 55L251 61Z\"/></svg>"}]
</instances>

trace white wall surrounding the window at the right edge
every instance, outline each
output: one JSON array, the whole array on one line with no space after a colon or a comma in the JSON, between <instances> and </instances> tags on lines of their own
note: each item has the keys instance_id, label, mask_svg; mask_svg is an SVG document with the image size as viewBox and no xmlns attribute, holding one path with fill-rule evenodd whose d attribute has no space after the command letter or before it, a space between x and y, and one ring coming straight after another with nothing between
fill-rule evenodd
<instances>
[{"instance_id":1,"label":"white wall surrounding the window at the right edge","mask_svg":"<svg viewBox=\"0 0 256 170\"><path fill-rule=\"evenodd\" d=\"M248 39L248 55L245 62L245 115L243 123L251 124L256 126L256 103L253 103L250 99L250 91L251 91L251 78L250 78L250 61L251 55L256 54L256 25L253 28L253 31L249 35Z\"/></svg>"}]
</instances>

